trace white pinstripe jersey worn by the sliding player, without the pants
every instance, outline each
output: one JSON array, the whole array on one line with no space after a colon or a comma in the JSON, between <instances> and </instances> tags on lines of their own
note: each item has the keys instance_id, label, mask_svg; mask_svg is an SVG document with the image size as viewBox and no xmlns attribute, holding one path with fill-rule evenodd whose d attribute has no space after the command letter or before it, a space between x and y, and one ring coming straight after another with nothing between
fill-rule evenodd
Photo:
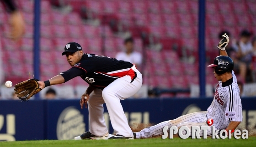
<instances>
[{"instance_id":1,"label":"white pinstripe jersey worn by the sliding player, without the pants","mask_svg":"<svg viewBox=\"0 0 256 147\"><path fill-rule=\"evenodd\" d=\"M225 129L230 121L242 122L243 119L240 89L234 71L232 76L228 81L219 81L214 100L207 109L207 118L212 118L218 129Z\"/></svg>"}]
</instances>

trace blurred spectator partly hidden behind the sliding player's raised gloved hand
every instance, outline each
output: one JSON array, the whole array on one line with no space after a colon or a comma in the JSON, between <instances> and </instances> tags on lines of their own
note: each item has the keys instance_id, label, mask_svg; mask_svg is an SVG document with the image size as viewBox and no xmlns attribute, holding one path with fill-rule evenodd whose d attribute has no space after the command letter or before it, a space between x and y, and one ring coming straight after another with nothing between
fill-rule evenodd
<instances>
[{"instance_id":1,"label":"blurred spectator partly hidden behind the sliding player's raised gloved hand","mask_svg":"<svg viewBox=\"0 0 256 147\"><path fill-rule=\"evenodd\" d=\"M222 35L226 33L229 37L231 36L229 31L224 30L221 31L219 33L219 39L222 39ZM239 72L239 76L237 78L240 78L241 81L245 81L245 77L246 77L246 64L243 61L239 61L237 58L237 51L235 50L235 47L231 46L230 44L228 44L228 46L226 46L226 51L228 53L228 56L230 58L232 58L232 60L234 61L234 71L235 72Z\"/></svg>"}]
</instances>

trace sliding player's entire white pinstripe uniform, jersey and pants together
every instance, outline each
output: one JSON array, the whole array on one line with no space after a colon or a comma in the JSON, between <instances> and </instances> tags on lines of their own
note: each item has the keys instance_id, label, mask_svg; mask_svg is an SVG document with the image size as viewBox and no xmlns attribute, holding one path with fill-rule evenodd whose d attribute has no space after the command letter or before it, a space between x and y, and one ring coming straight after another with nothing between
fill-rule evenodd
<instances>
[{"instance_id":1,"label":"sliding player's entire white pinstripe uniform, jersey and pants together","mask_svg":"<svg viewBox=\"0 0 256 147\"><path fill-rule=\"evenodd\" d=\"M234 71L232 71L231 79L223 83L219 81L216 86L213 102L206 112L194 112L174 120L160 122L155 126L147 127L140 132L136 132L136 138L148 138L162 135L162 130L165 126L169 128L171 126L187 126L190 128L192 126L208 126L206 122L209 118L213 119L212 126L214 126L216 130L225 129L231 121L242 122L240 90ZM208 130L207 135L212 135L212 129ZM203 131L200 132L200 136L203 136Z\"/></svg>"}]
</instances>

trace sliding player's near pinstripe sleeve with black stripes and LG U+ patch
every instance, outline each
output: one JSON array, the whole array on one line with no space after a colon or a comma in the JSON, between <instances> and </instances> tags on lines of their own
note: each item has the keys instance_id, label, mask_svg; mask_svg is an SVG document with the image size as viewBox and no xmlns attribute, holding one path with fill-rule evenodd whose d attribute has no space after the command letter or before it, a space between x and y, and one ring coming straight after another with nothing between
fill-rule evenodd
<instances>
[{"instance_id":1,"label":"sliding player's near pinstripe sleeve with black stripes and LG U+ patch","mask_svg":"<svg viewBox=\"0 0 256 147\"><path fill-rule=\"evenodd\" d=\"M225 111L226 121L242 122L242 104L240 99L239 87L236 83L228 86L229 99Z\"/></svg>"}]
</instances>

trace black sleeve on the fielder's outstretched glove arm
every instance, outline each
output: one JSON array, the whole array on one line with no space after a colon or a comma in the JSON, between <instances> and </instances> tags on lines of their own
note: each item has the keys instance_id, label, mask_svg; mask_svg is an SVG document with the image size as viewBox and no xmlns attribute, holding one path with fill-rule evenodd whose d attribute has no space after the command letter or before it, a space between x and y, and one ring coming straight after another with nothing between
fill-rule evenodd
<instances>
[{"instance_id":1,"label":"black sleeve on the fielder's outstretched glove arm","mask_svg":"<svg viewBox=\"0 0 256 147\"><path fill-rule=\"evenodd\" d=\"M84 73L85 73L85 71L83 71L82 69L70 68L69 70L62 72L59 75L63 76L64 80L66 82L66 81L69 81L77 76L81 76Z\"/></svg>"}]
</instances>

